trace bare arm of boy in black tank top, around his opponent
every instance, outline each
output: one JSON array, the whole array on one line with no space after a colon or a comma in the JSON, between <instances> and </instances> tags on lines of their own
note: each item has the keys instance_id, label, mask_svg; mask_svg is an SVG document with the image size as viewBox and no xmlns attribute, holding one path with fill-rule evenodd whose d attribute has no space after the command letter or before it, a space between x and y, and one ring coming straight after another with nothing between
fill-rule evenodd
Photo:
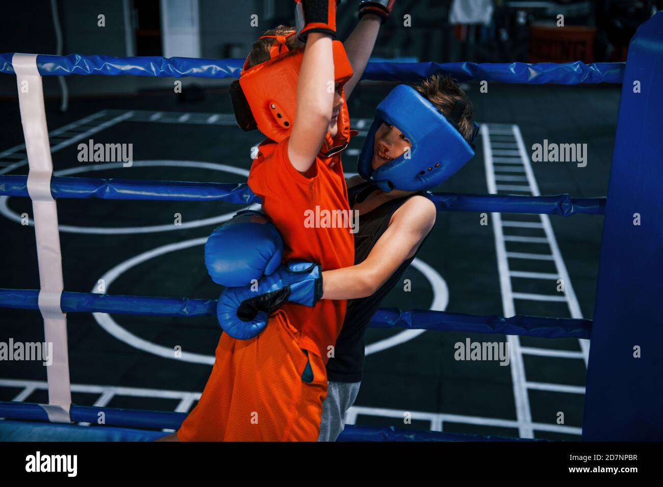
<instances>
[{"instance_id":1,"label":"bare arm of boy in black tank top, around his opponent","mask_svg":"<svg viewBox=\"0 0 663 487\"><path fill-rule=\"evenodd\" d=\"M361 263L322 273L322 299L357 299L374 294L412 257L435 223L430 199L413 196L392 217L389 228Z\"/></svg>"}]
</instances>

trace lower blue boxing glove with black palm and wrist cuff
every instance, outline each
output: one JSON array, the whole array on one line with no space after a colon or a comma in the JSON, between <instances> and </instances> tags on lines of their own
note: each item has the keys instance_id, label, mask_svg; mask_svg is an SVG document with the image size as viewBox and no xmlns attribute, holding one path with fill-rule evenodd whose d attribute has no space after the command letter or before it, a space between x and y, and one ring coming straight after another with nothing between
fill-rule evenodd
<instances>
[{"instance_id":1,"label":"lower blue boxing glove with black palm and wrist cuff","mask_svg":"<svg viewBox=\"0 0 663 487\"><path fill-rule=\"evenodd\" d=\"M322 269L312 262L287 262L254 285L226 288L219 297L216 317L233 338L257 337L267 326L270 313L286 301L315 306L322 298Z\"/></svg>"}]
</instances>

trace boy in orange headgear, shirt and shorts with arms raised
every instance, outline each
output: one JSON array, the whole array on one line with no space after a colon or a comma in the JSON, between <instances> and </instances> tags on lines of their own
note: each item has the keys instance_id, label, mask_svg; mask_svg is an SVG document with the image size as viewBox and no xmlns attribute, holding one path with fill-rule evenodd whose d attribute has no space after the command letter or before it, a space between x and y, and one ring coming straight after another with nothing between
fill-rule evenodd
<instances>
[{"instance_id":1,"label":"boy in orange headgear, shirt and shorts with arms raised","mask_svg":"<svg viewBox=\"0 0 663 487\"><path fill-rule=\"evenodd\" d=\"M280 27L261 37L231 95L240 127L268 137L249 186L283 237L284 260L333 270L354 263L352 233L306 227L302 215L316 207L349 213L340 158L351 135L344 98L361 78L393 1L361 3L347 54L332 41L335 0L297 3L298 36ZM171 439L316 441L327 394L326 349L341 330L345 307L345 300L285 303L255 338L223 333L202 398Z\"/></svg>"}]
</instances>

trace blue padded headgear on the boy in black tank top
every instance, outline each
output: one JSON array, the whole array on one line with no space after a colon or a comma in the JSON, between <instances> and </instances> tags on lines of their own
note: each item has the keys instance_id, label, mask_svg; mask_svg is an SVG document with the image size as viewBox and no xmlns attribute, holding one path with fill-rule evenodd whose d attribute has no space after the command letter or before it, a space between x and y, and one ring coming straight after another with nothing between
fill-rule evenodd
<instances>
[{"instance_id":1,"label":"blue padded headgear on the boy in black tank top","mask_svg":"<svg viewBox=\"0 0 663 487\"><path fill-rule=\"evenodd\" d=\"M359 154L359 174L387 193L392 189L420 191L442 184L474 156L474 146L457 129L464 109L465 102L458 101L447 118L416 89L396 86L377 106L375 120ZM373 142L383 121L400 130L412 142L412 148L410 158L406 159L406 152L374 171ZM475 123L472 143L478 133L479 126Z\"/></svg>"}]
</instances>

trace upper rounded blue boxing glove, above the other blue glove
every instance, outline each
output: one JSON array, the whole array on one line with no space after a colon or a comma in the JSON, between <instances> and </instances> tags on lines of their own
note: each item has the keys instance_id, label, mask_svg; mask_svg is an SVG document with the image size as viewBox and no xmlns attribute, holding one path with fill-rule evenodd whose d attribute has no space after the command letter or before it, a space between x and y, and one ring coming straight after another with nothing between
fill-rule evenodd
<instances>
[{"instance_id":1,"label":"upper rounded blue boxing glove, above the other blue glove","mask_svg":"<svg viewBox=\"0 0 663 487\"><path fill-rule=\"evenodd\" d=\"M217 227L205 243L205 266L221 286L245 286L281 263L283 239L259 211L240 211Z\"/></svg>"}]
</instances>

